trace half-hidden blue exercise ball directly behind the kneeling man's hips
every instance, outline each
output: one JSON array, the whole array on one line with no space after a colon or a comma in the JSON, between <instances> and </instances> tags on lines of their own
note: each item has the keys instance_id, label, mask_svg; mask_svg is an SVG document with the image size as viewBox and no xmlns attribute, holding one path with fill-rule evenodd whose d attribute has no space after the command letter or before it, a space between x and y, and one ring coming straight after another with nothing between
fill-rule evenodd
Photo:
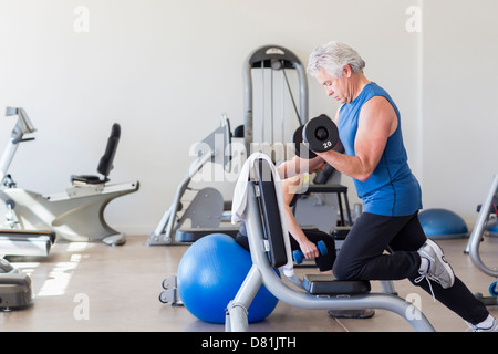
<instances>
[{"instance_id":1,"label":"half-hidden blue exercise ball directly behind the kneeling man's hips","mask_svg":"<svg viewBox=\"0 0 498 354\"><path fill-rule=\"evenodd\" d=\"M428 238L459 238L468 236L464 219L447 209L427 209L418 214L422 228Z\"/></svg>"}]
</instances>

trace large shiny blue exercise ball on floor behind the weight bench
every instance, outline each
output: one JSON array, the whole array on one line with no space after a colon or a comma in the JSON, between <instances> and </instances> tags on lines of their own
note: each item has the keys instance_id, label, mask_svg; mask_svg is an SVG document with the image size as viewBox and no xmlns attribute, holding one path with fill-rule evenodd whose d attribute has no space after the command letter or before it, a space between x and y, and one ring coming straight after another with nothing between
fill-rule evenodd
<instances>
[{"instance_id":1,"label":"large shiny blue exercise ball on floor behind the weight bench","mask_svg":"<svg viewBox=\"0 0 498 354\"><path fill-rule=\"evenodd\" d=\"M250 253L228 235L211 233L197 240L178 264L177 289L185 308L201 321L225 323L225 309L251 266ZM249 323L264 320L277 303L262 285L248 309Z\"/></svg>"}]
</instances>

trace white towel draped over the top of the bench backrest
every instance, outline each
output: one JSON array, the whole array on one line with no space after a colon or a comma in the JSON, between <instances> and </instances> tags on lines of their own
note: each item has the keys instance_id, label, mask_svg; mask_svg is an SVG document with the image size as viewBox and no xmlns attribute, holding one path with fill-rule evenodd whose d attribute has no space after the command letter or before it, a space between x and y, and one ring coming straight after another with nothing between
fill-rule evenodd
<instances>
[{"instance_id":1,"label":"white towel draped over the top of the bench backrest","mask_svg":"<svg viewBox=\"0 0 498 354\"><path fill-rule=\"evenodd\" d=\"M287 259L288 262L283 267L280 268L282 273L289 278L294 275L294 269L292 263L292 253L291 253L291 247L290 247L290 240L289 240L289 231L287 228L287 219L286 219L286 211L283 208L283 192L281 188L281 179L279 176L279 173L277 170L277 167L273 165L271 159L262 154L262 153L255 153L251 156L248 157L246 163L242 166L242 169L240 170L239 178L237 179L235 191L234 191L234 199L231 202L231 222L236 223L238 221L246 219L246 207L247 207L247 195L248 195L248 187L249 187L249 179L252 174L252 168L255 167L255 163L258 159L264 159L268 162L271 173L273 175L273 181L276 185L276 194L277 194L277 201L279 206L279 212L280 212L280 220L282 223L282 231L283 231L283 241L286 244L286 252L287 252Z\"/></svg>"}]
</instances>

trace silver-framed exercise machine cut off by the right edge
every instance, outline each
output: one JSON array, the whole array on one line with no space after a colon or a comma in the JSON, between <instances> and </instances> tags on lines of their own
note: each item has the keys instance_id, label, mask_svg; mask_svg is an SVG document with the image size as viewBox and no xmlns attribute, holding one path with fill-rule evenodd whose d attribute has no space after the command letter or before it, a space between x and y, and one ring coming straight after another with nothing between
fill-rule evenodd
<instances>
[{"instance_id":1,"label":"silver-framed exercise machine cut off by the right edge","mask_svg":"<svg viewBox=\"0 0 498 354\"><path fill-rule=\"evenodd\" d=\"M491 269L483 261L479 252L480 242L484 240L487 230L498 225L498 175L495 175L489 186L488 194L483 205L478 206L479 216L477 217L476 225L470 233L467 242L465 253L470 256L470 260L481 272L495 278L495 281L489 285L489 293L491 296L484 296L483 293L476 293L476 298L479 299L486 305L498 304L498 269Z\"/></svg>"}]
</instances>

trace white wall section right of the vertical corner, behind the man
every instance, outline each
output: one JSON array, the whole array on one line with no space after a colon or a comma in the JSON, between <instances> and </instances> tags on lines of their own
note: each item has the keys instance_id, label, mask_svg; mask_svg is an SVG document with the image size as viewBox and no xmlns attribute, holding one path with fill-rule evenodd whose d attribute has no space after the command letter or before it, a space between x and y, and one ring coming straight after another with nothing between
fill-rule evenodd
<instances>
[{"instance_id":1,"label":"white wall section right of the vertical corner, behind the man","mask_svg":"<svg viewBox=\"0 0 498 354\"><path fill-rule=\"evenodd\" d=\"M424 1L424 204L473 225L498 171L498 2Z\"/></svg>"}]
</instances>

